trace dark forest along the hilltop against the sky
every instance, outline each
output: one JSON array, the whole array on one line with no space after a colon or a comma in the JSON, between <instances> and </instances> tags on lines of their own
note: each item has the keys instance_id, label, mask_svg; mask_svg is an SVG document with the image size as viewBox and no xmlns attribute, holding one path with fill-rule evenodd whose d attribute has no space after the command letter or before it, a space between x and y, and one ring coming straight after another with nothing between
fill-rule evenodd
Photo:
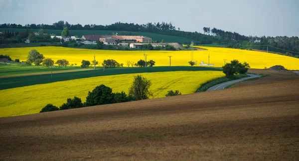
<instances>
[{"instance_id":1,"label":"dark forest along the hilltop against the sky","mask_svg":"<svg viewBox=\"0 0 299 161\"><path fill-rule=\"evenodd\" d=\"M15 24L3 23L0 28L26 28L26 29L59 29L68 27L70 30L116 30L127 31L122 34L133 34L134 32L149 32L171 36L180 36L193 39L197 44L226 44L225 47L241 48L241 49L258 49L273 52L287 53L290 56L299 55L299 37L293 36L245 36L237 32L224 31L218 28L203 27L203 33L181 31L179 27L175 27L171 22L157 22L146 24L122 23L116 22L110 25L96 24L69 24L63 20L53 24ZM1 30L1 29L0 29ZM201 30L201 29L199 29ZM3 36L3 35L2 35ZM5 35L4 35L5 37Z\"/></svg>"}]
</instances>

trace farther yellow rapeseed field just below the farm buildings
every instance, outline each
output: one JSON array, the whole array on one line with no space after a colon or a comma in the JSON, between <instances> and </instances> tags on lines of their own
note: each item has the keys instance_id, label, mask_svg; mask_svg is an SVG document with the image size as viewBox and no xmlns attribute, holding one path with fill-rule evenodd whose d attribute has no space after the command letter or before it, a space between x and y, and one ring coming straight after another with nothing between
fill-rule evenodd
<instances>
[{"instance_id":1,"label":"farther yellow rapeseed field just below the farm buildings","mask_svg":"<svg viewBox=\"0 0 299 161\"><path fill-rule=\"evenodd\" d=\"M208 55L210 55L210 64L215 67L221 67L224 64L223 59L230 61L238 59L241 62L248 62L251 68L264 69L274 65L283 65L291 70L299 70L299 59L279 54L272 54L259 51L205 47L207 50L195 50L194 60L198 61L197 66L201 61L208 63ZM89 49L74 49L65 47L23 47L23 48L3 48L0 49L0 54L9 55L12 59L26 60L28 52L35 48L42 53L46 58L51 58L54 61L58 59L67 59L71 64L81 65L81 61L93 60L94 54L96 59L102 62L103 59L115 59L119 63L126 64L127 60L137 62L144 59L144 52L148 55L148 60L154 60L156 66L169 65L169 55L171 55L171 65L173 66L188 66L190 61L191 51L117 51L117 50L89 50Z\"/></svg>"}]
</instances>

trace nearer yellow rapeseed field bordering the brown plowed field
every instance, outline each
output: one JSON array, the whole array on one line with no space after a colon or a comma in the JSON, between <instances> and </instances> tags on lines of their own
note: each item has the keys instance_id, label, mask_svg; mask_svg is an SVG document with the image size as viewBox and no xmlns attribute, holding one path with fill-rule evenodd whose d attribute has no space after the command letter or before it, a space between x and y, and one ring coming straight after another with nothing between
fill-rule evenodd
<instances>
[{"instance_id":1,"label":"nearer yellow rapeseed field bordering the brown plowed field","mask_svg":"<svg viewBox=\"0 0 299 161\"><path fill-rule=\"evenodd\" d=\"M1 90L0 117L39 113L46 104L61 106L67 98L79 97L84 102L88 91L104 84L113 92L125 91L131 86L137 74L121 74L74 79L47 84ZM150 98L165 97L169 90L179 90L182 94L194 93L201 84L225 76L221 71L175 71L141 73L151 80Z\"/></svg>"}]
</instances>

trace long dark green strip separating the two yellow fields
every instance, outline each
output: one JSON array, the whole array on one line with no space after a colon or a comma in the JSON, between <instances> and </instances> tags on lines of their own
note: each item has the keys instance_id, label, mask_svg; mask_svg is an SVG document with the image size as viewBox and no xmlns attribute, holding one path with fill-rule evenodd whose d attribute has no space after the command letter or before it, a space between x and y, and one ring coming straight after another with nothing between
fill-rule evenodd
<instances>
[{"instance_id":1,"label":"long dark green strip separating the two yellow fields","mask_svg":"<svg viewBox=\"0 0 299 161\"><path fill-rule=\"evenodd\" d=\"M134 68L106 68L103 70L87 70L77 72L66 72L21 77L7 77L0 78L0 90L30 86L35 84L45 84L58 81L66 81L72 79L81 79L106 75L118 75L118 74L133 74L133 73L150 73L150 72L170 72L170 71L221 71L218 68L209 67L188 67L188 66L158 66L158 67L134 67Z\"/></svg>"}]
</instances>

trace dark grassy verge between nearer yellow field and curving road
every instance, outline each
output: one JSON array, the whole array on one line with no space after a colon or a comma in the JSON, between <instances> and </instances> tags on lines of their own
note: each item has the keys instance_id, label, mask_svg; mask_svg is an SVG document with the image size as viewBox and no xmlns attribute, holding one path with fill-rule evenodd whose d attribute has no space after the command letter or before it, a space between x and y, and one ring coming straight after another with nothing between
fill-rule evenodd
<instances>
[{"instance_id":1,"label":"dark grassy verge between nearer yellow field and curving road","mask_svg":"<svg viewBox=\"0 0 299 161\"><path fill-rule=\"evenodd\" d=\"M245 78L245 77L248 77L248 75L246 74L240 74L240 75L234 75L232 77L221 77L221 78L217 78L217 79L213 79L211 81L208 81L204 84L202 84L196 92L205 92L207 89L217 85L217 84L220 84L220 83L223 83L223 82L227 82L227 81L231 81L231 80L236 80L236 79L240 79L240 78Z\"/></svg>"}]
</instances>

